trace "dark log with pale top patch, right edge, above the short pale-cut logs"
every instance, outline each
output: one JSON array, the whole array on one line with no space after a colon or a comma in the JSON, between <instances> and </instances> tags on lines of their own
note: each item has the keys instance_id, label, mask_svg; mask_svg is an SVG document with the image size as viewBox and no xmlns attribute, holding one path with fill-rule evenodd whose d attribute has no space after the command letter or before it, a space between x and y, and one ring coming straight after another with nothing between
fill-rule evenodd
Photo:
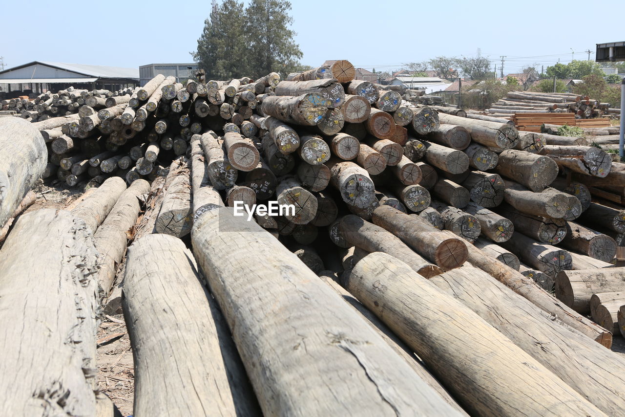
<instances>
[{"instance_id":1,"label":"dark log with pale top patch, right edge, above the short pale-cut logs","mask_svg":"<svg viewBox=\"0 0 625 417\"><path fill-rule=\"evenodd\" d=\"M616 255L614 239L574 222L566 222L562 246L604 262L611 262Z\"/></svg>"}]
</instances>

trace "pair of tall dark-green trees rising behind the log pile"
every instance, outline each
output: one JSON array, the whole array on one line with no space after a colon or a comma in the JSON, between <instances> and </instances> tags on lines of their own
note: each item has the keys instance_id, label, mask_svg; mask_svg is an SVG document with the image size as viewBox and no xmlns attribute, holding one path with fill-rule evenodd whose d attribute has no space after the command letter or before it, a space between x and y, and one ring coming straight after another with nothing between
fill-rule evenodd
<instances>
[{"instance_id":1,"label":"pair of tall dark-green trees rising behind the log pile","mask_svg":"<svg viewBox=\"0 0 625 417\"><path fill-rule=\"evenodd\" d=\"M236 0L212 2L209 18L197 39L193 59L206 70L207 80L228 80L247 75L282 75L302 68L302 52L289 29L291 3L284 0Z\"/></svg>"}]
</instances>

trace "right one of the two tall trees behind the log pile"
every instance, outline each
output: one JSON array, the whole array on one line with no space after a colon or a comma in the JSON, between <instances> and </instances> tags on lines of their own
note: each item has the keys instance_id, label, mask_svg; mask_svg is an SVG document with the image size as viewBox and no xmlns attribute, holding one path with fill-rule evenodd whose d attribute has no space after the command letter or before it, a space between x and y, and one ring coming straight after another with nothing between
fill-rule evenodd
<instances>
[{"instance_id":1,"label":"right one of the two tall trees behind the log pile","mask_svg":"<svg viewBox=\"0 0 625 417\"><path fill-rule=\"evenodd\" d=\"M289 29L291 3L284 0L252 0L247 7L245 32L250 46L249 75L256 78L271 72L289 73L299 64L302 51Z\"/></svg>"}]
</instances>

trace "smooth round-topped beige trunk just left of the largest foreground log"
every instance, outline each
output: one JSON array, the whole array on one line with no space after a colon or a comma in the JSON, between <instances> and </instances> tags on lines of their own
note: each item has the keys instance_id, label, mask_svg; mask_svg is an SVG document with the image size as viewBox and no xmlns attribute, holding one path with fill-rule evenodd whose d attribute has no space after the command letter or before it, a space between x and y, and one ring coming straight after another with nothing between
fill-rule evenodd
<instances>
[{"instance_id":1,"label":"smooth round-topped beige trunk just left of the largest foreground log","mask_svg":"<svg viewBox=\"0 0 625 417\"><path fill-rule=\"evenodd\" d=\"M128 248L123 304L134 414L260 414L227 326L180 239L146 235Z\"/></svg>"}]
</instances>

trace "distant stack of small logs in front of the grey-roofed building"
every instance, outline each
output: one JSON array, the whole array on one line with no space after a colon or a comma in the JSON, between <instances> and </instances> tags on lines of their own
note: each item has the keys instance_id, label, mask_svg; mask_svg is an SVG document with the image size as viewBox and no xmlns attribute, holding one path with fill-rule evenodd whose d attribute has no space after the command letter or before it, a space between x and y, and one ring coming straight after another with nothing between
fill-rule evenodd
<instances>
[{"instance_id":1,"label":"distant stack of small logs in front of the grey-roofed building","mask_svg":"<svg viewBox=\"0 0 625 417\"><path fill-rule=\"evenodd\" d=\"M119 91L109 90L80 90L74 87L59 90L56 93L46 91L36 96L34 99L27 99L26 96L19 98L8 98L0 100L2 105L2 114L19 115L27 121L44 121L57 116L69 116L81 113L81 116L87 116L89 110L87 106L93 109L101 109L109 107L105 105L106 100L111 97L112 100L122 101L125 95L131 95L132 89L126 88ZM81 110L82 108L82 110Z\"/></svg>"}]
</instances>

